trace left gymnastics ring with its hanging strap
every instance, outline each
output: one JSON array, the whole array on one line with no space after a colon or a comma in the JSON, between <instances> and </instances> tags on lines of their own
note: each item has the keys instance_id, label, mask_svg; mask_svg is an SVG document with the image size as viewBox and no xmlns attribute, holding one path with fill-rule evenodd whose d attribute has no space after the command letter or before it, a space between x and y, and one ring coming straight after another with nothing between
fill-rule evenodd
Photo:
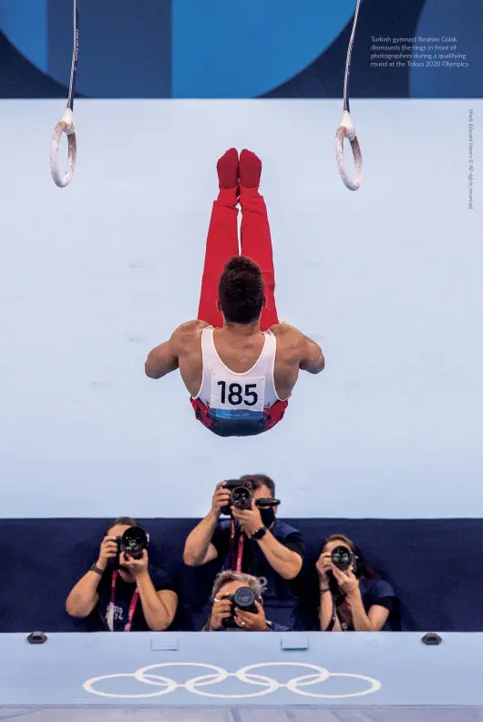
<instances>
[{"instance_id":1,"label":"left gymnastics ring with its hanging strap","mask_svg":"<svg viewBox=\"0 0 483 722\"><path fill-rule=\"evenodd\" d=\"M72 52L72 66L70 68L70 82L67 98L67 109L63 119L57 123L50 143L50 172L57 188L65 188L74 175L77 161L77 139L76 128L74 125L74 94L76 88L77 76L77 57L78 57L78 16L77 16L77 0L74 0L74 49ZM67 135L68 144L68 160L67 170L61 172L58 164L58 155L60 149L60 140L63 134Z\"/></svg>"}]
</instances>

